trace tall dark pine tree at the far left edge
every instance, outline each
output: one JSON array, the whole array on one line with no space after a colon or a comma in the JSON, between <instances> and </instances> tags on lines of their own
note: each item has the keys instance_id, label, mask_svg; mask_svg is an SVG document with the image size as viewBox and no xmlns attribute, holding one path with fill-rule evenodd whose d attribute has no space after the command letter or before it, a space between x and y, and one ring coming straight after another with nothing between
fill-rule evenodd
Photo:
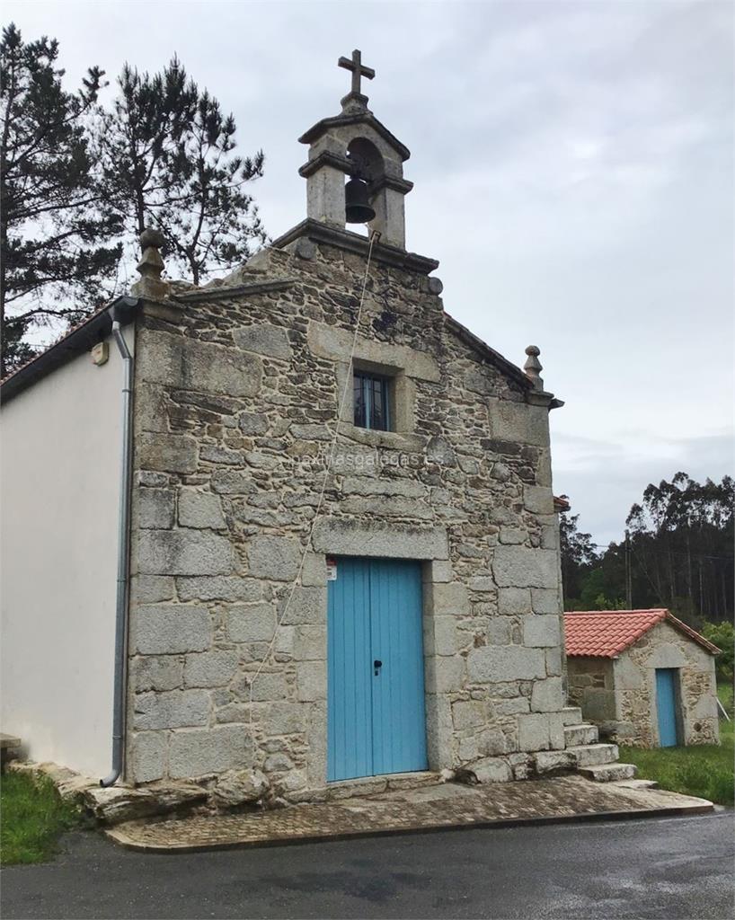
<instances>
[{"instance_id":1,"label":"tall dark pine tree at the far left edge","mask_svg":"<svg viewBox=\"0 0 735 920\"><path fill-rule=\"evenodd\" d=\"M121 256L116 215L98 208L86 136L104 72L63 89L58 42L25 42L14 24L0 42L0 328L2 374L27 360L29 328L75 321L109 293ZM7 318L6 318L7 313Z\"/></svg>"}]
</instances>

